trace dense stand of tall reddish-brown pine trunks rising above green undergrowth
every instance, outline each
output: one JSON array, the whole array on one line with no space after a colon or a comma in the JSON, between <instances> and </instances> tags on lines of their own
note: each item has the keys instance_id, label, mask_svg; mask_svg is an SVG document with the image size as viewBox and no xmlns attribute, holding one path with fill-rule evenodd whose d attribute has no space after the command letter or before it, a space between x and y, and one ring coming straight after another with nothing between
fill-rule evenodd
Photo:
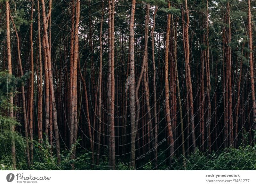
<instances>
[{"instance_id":1,"label":"dense stand of tall reddish-brown pine trunks rising above green undergrowth","mask_svg":"<svg viewBox=\"0 0 256 186\"><path fill-rule=\"evenodd\" d=\"M90 3L88 1L89 6ZM81 136L79 145L92 152L92 167L99 165L100 158L107 156L109 169L113 170L117 161L126 161L136 169L140 166L138 157L141 159L141 156L143 161L152 160L156 169L159 153L164 153L167 164L171 164L174 155L187 156L196 147L209 155L212 151L230 146L237 148L243 143L253 142L256 105L250 0L246 28L249 52L244 52L246 42L243 41L236 62L230 47L230 1L226 4L227 11L223 16L225 24L220 41L222 58L216 61L213 61L215 58L210 51L208 0L204 2L206 8L200 12L200 21L205 31L197 36L204 47L196 62L191 57L194 33L190 33L188 2L184 0L183 3L180 6L180 19L168 12L171 7L179 6L168 1L164 34L155 31L158 7L145 3L145 19L140 30L143 36L139 40L137 37L135 40L134 33L135 0L132 0L130 17L127 19L128 35L116 26L115 1L100 3L97 37L95 30L98 28L95 28L93 13L89 11L89 30L85 34L89 46L85 47L91 55L84 62L80 58L80 49L84 48L83 42L86 42L80 35L83 21L80 17L80 0L69 2L71 24L68 38L59 34L59 43L54 43L59 48L59 56L52 53L52 0L49 0L48 8L44 0L32 1L30 51L27 54L32 72L30 89L25 92L24 86L20 88L19 103L23 112L21 128L27 143L28 167L33 164L33 140L38 140L41 145L48 141L54 147L57 162L60 163L60 153L65 148L72 150L71 159L76 159L76 141ZM9 74L13 73L14 64L11 55L17 57L17 75L23 76L19 31L8 1L5 6L7 53L3 56L7 56ZM16 54L11 52L10 19L17 40ZM34 19L36 28L33 28L36 25ZM104 24L107 30L103 30ZM178 42L183 44L183 48L178 46ZM95 46L97 44L99 47ZM137 56L137 50L141 57ZM177 58L177 50L182 50L183 64ZM94 58L94 54L99 55L99 60ZM246 69L243 69L241 55L249 58L248 75L244 73ZM53 56L58 60L57 66L52 65ZM84 69L89 62L90 68ZM217 68L218 63L221 63L221 70ZM252 97L250 101L248 96ZM13 104L12 95L10 103ZM14 117L12 109L9 116ZM249 141L244 140L244 133L248 133ZM166 141L164 144L160 143L163 139ZM107 155L104 155L105 150L108 150ZM150 155L145 158L145 154ZM15 168L14 140L12 158ZM183 163L186 166L185 160ZM71 166L75 168L74 164Z\"/></svg>"}]
</instances>

